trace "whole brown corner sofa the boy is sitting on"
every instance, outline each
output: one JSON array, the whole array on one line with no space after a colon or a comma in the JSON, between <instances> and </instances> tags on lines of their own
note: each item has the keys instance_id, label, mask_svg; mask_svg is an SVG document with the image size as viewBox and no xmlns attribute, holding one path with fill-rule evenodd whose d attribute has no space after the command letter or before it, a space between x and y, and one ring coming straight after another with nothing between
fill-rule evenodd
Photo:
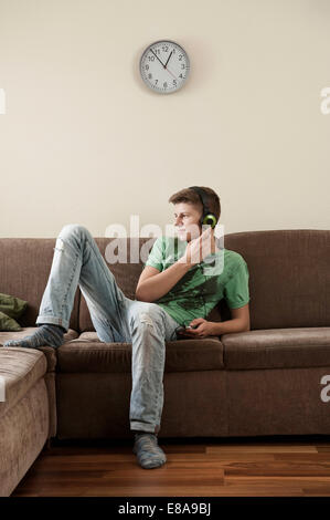
<instances>
[{"instance_id":1,"label":"whole brown corner sofa the boy is sitting on","mask_svg":"<svg viewBox=\"0 0 330 520\"><path fill-rule=\"evenodd\" d=\"M105 256L111 239L95 240ZM0 345L35 327L54 246L55 239L0 239L0 292L29 302L23 331L1 332ZM251 331L167 343L159 436L329 435L330 403L320 393L330 374L330 231L238 232L224 246L249 269ZM109 267L134 299L142 263ZM209 320L230 318L223 300ZM131 345L98 340L79 289L65 339L58 350L0 349L1 496L49 438L131 437Z\"/></svg>"}]
</instances>

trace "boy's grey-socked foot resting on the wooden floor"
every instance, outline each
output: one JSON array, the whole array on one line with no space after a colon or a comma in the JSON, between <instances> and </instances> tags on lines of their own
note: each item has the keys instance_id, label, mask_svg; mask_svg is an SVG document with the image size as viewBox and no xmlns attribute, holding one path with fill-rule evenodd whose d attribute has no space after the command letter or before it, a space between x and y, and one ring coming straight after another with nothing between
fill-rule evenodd
<instances>
[{"instance_id":1,"label":"boy's grey-socked foot resting on the wooden floor","mask_svg":"<svg viewBox=\"0 0 330 520\"><path fill-rule=\"evenodd\" d=\"M158 446L157 436L141 431L135 435L134 454L145 469L159 468L167 461L166 454Z\"/></svg>"}]
</instances>

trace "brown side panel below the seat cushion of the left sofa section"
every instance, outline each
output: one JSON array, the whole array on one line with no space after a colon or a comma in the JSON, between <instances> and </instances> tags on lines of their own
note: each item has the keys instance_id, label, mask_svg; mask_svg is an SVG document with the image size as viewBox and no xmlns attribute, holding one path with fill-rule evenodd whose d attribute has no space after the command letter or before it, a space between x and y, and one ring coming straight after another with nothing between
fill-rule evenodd
<instances>
[{"instance_id":1,"label":"brown side panel below the seat cushion of the left sofa section","mask_svg":"<svg viewBox=\"0 0 330 520\"><path fill-rule=\"evenodd\" d=\"M49 430L47 391L40 378L0 418L1 497L8 497L24 477L41 453Z\"/></svg>"}]
</instances>

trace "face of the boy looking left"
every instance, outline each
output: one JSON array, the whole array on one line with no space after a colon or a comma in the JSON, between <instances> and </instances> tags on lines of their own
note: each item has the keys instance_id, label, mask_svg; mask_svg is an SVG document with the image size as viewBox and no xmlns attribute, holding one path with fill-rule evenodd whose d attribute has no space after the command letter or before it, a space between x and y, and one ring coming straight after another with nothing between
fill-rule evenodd
<instances>
[{"instance_id":1,"label":"face of the boy looking left","mask_svg":"<svg viewBox=\"0 0 330 520\"><path fill-rule=\"evenodd\" d=\"M190 240L193 240L201 235L201 216L202 211L192 204L174 204L174 226L177 227L177 232L180 240L190 242Z\"/></svg>"}]
</instances>

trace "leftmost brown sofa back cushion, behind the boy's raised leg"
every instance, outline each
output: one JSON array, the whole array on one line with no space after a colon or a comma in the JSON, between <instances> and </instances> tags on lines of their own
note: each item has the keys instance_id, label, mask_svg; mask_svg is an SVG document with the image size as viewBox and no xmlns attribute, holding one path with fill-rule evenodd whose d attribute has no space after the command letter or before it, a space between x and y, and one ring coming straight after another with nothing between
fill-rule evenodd
<instances>
[{"instance_id":1,"label":"leftmost brown sofa back cushion, behind the boy's raised leg","mask_svg":"<svg viewBox=\"0 0 330 520\"><path fill-rule=\"evenodd\" d=\"M52 267L56 239L1 238L1 292L29 302L19 319L22 326L34 326L39 308ZM70 329L78 325L78 291L74 300Z\"/></svg>"}]
</instances>

